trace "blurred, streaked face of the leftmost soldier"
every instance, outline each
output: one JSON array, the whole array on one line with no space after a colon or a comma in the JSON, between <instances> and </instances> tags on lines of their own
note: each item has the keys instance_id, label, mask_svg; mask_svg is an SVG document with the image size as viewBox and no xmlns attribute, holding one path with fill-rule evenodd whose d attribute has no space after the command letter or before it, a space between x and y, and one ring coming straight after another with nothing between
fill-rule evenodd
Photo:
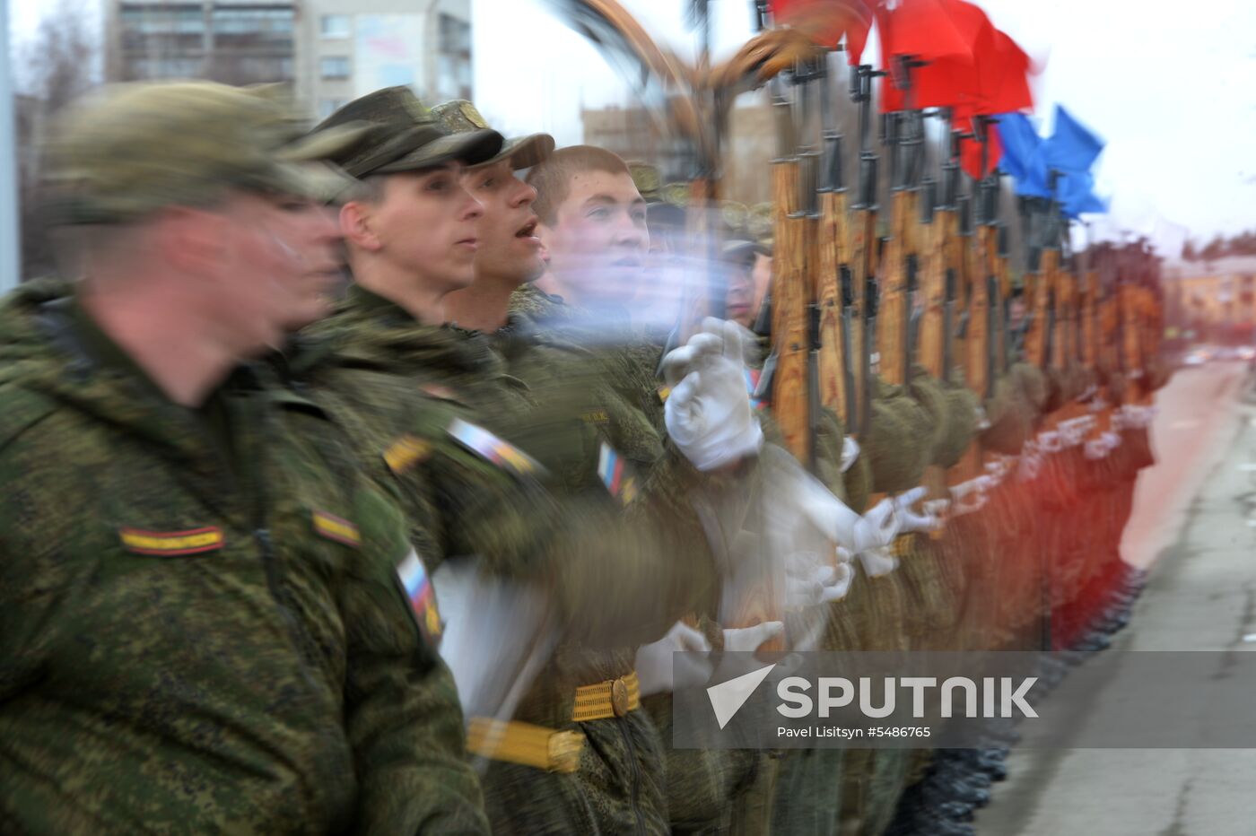
<instances>
[{"instance_id":1,"label":"blurred, streaked face of the leftmost soldier","mask_svg":"<svg viewBox=\"0 0 1256 836\"><path fill-rule=\"evenodd\" d=\"M222 215L230 232L216 304L247 348L275 345L328 313L340 231L327 208L298 197L237 195Z\"/></svg>"}]
</instances>

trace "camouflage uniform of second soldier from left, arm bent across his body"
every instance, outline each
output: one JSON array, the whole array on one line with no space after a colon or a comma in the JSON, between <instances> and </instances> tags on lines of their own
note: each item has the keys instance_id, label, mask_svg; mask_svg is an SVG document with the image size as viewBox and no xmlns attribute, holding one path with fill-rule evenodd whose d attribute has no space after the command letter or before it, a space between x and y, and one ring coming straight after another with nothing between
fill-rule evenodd
<instances>
[{"instance_id":1,"label":"camouflage uniform of second soldier from left, arm bent across his body","mask_svg":"<svg viewBox=\"0 0 1256 836\"><path fill-rule=\"evenodd\" d=\"M545 469L548 490L437 457L392 473L412 518L423 520L418 527L437 532L436 554L480 555L494 574L539 579L563 613L560 644L514 719L578 731L587 744L575 774L491 763L484 782L495 832L667 832L662 753L648 717L573 718L579 687L631 677L638 644L713 596L711 555L690 502L697 471L674 452L667 468L648 467L664 449L636 402L597 385L604 367L592 354L540 338L520 318L495 335L423 326L354 287L313 336L330 349L315 369L319 389L359 417L367 458L379 461L406 434L440 438L441 426L420 427L407 414L426 389L445 409L517 441ZM624 483L637 471L636 500L600 480L604 443L627 458Z\"/></svg>"}]
</instances>

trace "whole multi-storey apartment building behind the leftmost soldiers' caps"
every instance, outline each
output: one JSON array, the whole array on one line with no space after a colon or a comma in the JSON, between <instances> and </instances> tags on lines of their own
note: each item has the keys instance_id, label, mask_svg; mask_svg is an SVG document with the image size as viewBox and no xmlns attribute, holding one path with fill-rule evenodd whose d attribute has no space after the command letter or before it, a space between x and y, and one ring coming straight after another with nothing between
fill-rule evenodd
<instances>
[{"instance_id":1,"label":"whole multi-storey apartment building behind the leftmost soldiers' caps","mask_svg":"<svg viewBox=\"0 0 1256 836\"><path fill-rule=\"evenodd\" d=\"M471 99L471 0L108 0L113 82L286 82L313 117L382 87Z\"/></svg>"}]
</instances>

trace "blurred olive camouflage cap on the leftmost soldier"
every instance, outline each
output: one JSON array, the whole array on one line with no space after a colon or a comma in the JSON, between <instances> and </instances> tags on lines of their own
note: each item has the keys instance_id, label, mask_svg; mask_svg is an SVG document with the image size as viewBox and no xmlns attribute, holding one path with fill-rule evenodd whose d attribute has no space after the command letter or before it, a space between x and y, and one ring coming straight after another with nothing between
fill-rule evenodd
<instances>
[{"instance_id":1,"label":"blurred olive camouflage cap on the leftmost soldier","mask_svg":"<svg viewBox=\"0 0 1256 836\"><path fill-rule=\"evenodd\" d=\"M53 127L48 185L54 218L117 223L163 206L203 206L227 188L327 198L352 182L311 164L360 139L360 126L301 138L276 88L212 82L107 85Z\"/></svg>"}]
</instances>

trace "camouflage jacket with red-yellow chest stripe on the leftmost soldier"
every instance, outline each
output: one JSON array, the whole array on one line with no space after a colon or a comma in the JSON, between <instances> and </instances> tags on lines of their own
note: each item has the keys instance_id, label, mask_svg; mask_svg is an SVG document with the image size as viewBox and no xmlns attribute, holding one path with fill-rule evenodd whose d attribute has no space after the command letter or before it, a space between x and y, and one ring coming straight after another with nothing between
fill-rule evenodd
<instances>
[{"instance_id":1,"label":"camouflage jacket with red-yellow chest stripe on the leftmost soldier","mask_svg":"<svg viewBox=\"0 0 1256 836\"><path fill-rule=\"evenodd\" d=\"M265 368L175 405L69 292L0 309L6 830L486 832L337 426Z\"/></svg>"}]
</instances>

